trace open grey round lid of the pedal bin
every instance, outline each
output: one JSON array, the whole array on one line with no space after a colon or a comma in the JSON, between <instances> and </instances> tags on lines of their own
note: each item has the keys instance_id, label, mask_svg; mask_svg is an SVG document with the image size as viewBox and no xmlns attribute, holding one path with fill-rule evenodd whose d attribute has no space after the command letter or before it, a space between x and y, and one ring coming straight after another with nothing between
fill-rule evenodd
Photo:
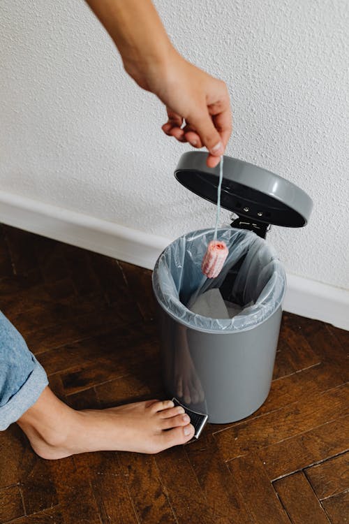
<instances>
[{"instance_id":1,"label":"open grey round lid of the pedal bin","mask_svg":"<svg viewBox=\"0 0 349 524\"><path fill-rule=\"evenodd\" d=\"M205 152L182 154L174 176L184 187L216 204L219 164L209 168L206 159ZM239 217L295 228L306 225L313 201L283 177L252 163L224 156L221 206Z\"/></svg>"}]
</instances>

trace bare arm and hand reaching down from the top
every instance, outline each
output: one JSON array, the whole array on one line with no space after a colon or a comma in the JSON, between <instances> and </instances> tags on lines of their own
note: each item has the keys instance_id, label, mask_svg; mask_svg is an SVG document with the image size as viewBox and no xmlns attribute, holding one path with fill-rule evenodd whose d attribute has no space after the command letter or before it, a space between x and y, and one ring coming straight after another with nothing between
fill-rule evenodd
<instances>
[{"instance_id":1,"label":"bare arm and hand reaching down from the top","mask_svg":"<svg viewBox=\"0 0 349 524\"><path fill-rule=\"evenodd\" d=\"M87 3L117 45L127 73L166 105L163 131L180 142L207 147L207 165L216 166L232 130L225 83L174 50L150 0Z\"/></svg>"}]
</instances>

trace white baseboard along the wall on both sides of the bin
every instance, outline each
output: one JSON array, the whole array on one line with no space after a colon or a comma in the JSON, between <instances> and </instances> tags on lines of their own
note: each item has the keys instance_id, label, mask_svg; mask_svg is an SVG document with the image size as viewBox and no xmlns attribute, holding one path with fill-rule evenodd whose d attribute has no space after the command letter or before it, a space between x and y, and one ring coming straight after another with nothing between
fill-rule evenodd
<instances>
[{"instance_id":1,"label":"white baseboard along the wall on both sides of the bin","mask_svg":"<svg viewBox=\"0 0 349 524\"><path fill-rule=\"evenodd\" d=\"M171 241L6 191L0 191L0 221L148 269ZM349 330L345 289L288 275L283 309Z\"/></svg>"}]
</instances>

